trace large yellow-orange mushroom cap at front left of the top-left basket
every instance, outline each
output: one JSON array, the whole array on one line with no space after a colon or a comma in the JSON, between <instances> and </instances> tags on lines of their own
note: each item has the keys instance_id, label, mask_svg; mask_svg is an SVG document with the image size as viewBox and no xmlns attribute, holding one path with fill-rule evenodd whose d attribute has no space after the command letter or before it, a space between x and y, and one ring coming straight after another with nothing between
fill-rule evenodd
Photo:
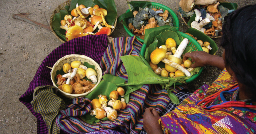
<instances>
[{"instance_id":1,"label":"large yellow-orange mushroom cap at front left of the top-left basket","mask_svg":"<svg viewBox=\"0 0 256 134\"><path fill-rule=\"evenodd\" d=\"M82 27L75 25L75 26L72 26L68 29L66 37L70 41L74 38L84 36L83 32L84 32L84 30L83 30Z\"/></svg>"}]
</instances>

